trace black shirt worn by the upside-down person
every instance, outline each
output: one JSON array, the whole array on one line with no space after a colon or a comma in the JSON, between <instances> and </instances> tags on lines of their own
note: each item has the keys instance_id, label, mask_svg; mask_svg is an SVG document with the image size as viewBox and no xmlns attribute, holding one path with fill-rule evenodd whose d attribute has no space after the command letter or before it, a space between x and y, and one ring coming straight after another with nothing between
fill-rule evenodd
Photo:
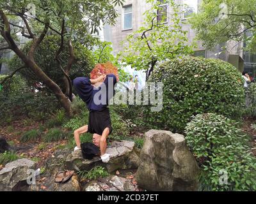
<instances>
[{"instance_id":1,"label":"black shirt worn by the upside-down person","mask_svg":"<svg viewBox=\"0 0 256 204\"><path fill-rule=\"evenodd\" d=\"M88 133L97 133L102 135L105 128L109 128L109 135L112 132L111 119L109 109L105 108L102 111L90 110Z\"/></svg>"}]
</instances>

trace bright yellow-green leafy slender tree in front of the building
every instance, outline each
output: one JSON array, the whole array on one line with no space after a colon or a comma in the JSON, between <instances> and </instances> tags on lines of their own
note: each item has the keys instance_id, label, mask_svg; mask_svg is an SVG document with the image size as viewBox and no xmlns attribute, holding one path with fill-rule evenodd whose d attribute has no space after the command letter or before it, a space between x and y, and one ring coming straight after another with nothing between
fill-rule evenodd
<instances>
[{"instance_id":1,"label":"bright yellow-green leafy slender tree in front of the building","mask_svg":"<svg viewBox=\"0 0 256 204\"><path fill-rule=\"evenodd\" d=\"M172 10L172 13L168 13L170 23L164 24L166 19L157 21L156 10L161 12L163 7L159 7L159 1L147 0L151 7L143 14L143 26L123 41L124 50L118 54L122 62L138 70L148 70L157 61L191 54L187 31L182 29L180 8L173 0L165 2L169 4L168 9Z\"/></svg>"}]
</instances>

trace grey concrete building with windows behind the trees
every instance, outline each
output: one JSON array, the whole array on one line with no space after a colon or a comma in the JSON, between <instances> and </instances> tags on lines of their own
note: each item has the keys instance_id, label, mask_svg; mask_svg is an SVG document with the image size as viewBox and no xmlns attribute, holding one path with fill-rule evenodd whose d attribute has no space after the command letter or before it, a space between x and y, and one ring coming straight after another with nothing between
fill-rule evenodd
<instances>
[{"instance_id":1,"label":"grey concrete building with windows behind the trees","mask_svg":"<svg viewBox=\"0 0 256 204\"><path fill-rule=\"evenodd\" d=\"M163 0L158 0L163 3ZM182 21L187 21L189 14L198 12L198 8L202 0L175 0L175 3L180 5L180 18ZM167 11L166 24L172 22L170 19L170 6L168 4L161 4L164 10ZM182 12L183 10L186 12ZM111 36L111 42L113 43L113 54L117 54L122 50L120 42L125 40L128 34L136 31L143 24L143 13L150 9L150 4L146 3L146 0L126 0L124 6L116 6L116 10L119 13L115 26L108 27L108 36ZM188 39L192 41L195 38L195 31L191 29L191 25L182 24L182 29L188 31ZM107 39L105 39L107 40ZM228 52L223 51L221 47L227 47ZM256 56L250 53L243 52L241 48L244 47L243 43L237 43L235 41L229 41L221 45L216 46L214 51L206 50L202 47L200 41L198 41L198 47L195 49L195 56L202 56L205 58L222 59L223 61L230 62L237 67L240 71L244 69L249 71L253 77L255 77L256 68Z\"/></svg>"}]
</instances>

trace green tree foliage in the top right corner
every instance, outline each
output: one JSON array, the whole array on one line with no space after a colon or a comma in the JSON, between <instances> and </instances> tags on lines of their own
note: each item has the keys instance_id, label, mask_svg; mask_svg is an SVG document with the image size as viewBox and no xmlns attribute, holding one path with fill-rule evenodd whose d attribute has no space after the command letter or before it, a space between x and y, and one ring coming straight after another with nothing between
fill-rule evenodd
<instances>
[{"instance_id":1,"label":"green tree foliage in the top right corner","mask_svg":"<svg viewBox=\"0 0 256 204\"><path fill-rule=\"evenodd\" d=\"M223 3L227 9L220 6ZM247 50L256 52L255 10L255 0L205 0L202 1L200 12L189 23L195 29L198 40L207 49L214 49L216 45L229 40L244 40ZM246 31L251 33L248 37L244 36Z\"/></svg>"}]
</instances>

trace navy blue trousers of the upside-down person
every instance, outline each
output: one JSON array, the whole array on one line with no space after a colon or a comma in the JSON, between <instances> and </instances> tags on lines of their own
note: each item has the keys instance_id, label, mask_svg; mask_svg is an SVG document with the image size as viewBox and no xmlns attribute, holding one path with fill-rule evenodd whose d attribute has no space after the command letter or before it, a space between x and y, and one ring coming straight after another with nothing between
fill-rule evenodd
<instances>
[{"instance_id":1,"label":"navy blue trousers of the upside-down person","mask_svg":"<svg viewBox=\"0 0 256 204\"><path fill-rule=\"evenodd\" d=\"M104 110L108 106L109 100L115 94L115 84L116 76L113 74L107 75L99 89L93 87L88 77L77 77L73 80L77 94L86 103L88 109L97 111Z\"/></svg>"}]
</instances>

